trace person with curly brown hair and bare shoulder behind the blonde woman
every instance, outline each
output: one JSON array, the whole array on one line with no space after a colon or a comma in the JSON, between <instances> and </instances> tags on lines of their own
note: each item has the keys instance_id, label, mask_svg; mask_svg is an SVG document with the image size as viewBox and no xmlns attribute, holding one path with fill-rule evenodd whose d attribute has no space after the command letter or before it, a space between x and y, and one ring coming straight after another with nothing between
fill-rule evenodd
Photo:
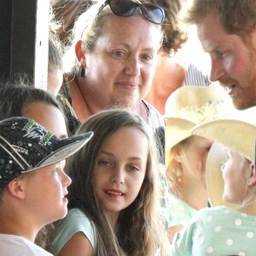
<instances>
[{"instance_id":1,"label":"person with curly brown hair and bare shoulder behind the blonde woman","mask_svg":"<svg viewBox=\"0 0 256 256\"><path fill-rule=\"evenodd\" d=\"M180 30L177 20L182 7L180 0L150 0L148 2L158 4L165 11L163 23L165 37L159 51L152 86L145 99L161 114L164 114L168 96L182 86L185 79L186 67L182 61L177 61L174 55L187 41L187 34Z\"/></svg>"}]
</instances>

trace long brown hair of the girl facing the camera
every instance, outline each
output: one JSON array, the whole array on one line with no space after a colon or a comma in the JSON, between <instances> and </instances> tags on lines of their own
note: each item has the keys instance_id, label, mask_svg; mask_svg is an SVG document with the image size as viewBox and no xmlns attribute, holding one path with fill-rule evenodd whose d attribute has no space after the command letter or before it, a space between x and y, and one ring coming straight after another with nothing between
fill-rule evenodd
<instances>
[{"instance_id":1,"label":"long brown hair of the girl facing the camera","mask_svg":"<svg viewBox=\"0 0 256 256\"><path fill-rule=\"evenodd\" d=\"M134 127L148 138L147 170L137 199L121 211L113 230L95 191L95 169L102 145L122 127ZM154 137L139 116L122 109L105 110L91 116L78 133L94 131L86 147L67 160L67 172L73 179L69 187L68 207L78 207L93 222L95 255L170 255L168 238L160 214L159 170ZM120 142L121 143L121 142Z\"/></svg>"}]
</instances>

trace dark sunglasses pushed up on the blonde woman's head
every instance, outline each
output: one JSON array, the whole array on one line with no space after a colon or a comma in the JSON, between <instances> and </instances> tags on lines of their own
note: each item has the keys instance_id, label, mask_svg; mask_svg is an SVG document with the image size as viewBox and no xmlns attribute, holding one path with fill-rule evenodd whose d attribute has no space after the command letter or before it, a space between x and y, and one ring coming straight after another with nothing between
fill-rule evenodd
<instances>
[{"instance_id":1,"label":"dark sunglasses pushed up on the blonde woman's head","mask_svg":"<svg viewBox=\"0 0 256 256\"><path fill-rule=\"evenodd\" d=\"M109 5L113 14L117 16L131 16L134 14L135 10L139 8L146 20L154 24L160 25L165 19L164 10L153 3L136 3L131 0L106 0L98 12L107 5Z\"/></svg>"}]
</instances>

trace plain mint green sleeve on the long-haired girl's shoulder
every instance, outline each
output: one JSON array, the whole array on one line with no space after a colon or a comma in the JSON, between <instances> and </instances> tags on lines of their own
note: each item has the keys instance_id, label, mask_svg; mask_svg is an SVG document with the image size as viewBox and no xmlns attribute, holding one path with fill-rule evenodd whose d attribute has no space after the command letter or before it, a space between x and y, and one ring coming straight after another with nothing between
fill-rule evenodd
<instances>
[{"instance_id":1,"label":"plain mint green sleeve on the long-haired girl's shoulder","mask_svg":"<svg viewBox=\"0 0 256 256\"><path fill-rule=\"evenodd\" d=\"M55 234L52 241L55 255L60 253L61 248L78 232L83 232L84 236L90 241L91 246L95 248L93 224L84 212L79 208L73 208L67 212L65 218L62 218L55 224Z\"/></svg>"}]
</instances>

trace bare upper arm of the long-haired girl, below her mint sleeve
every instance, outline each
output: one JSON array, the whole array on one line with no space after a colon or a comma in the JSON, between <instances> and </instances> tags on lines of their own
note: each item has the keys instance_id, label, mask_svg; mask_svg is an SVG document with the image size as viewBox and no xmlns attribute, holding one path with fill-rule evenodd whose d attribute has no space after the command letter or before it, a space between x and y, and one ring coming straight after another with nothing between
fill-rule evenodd
<instances>
[{"instance_id":1,"label":"bare upper arm of the long-haired girl, below her mint sleeve","mask_svg":"<svg viewBox=\"0 0 256 256\"><path fill-rule=\"evenodd\" d=\"M93 248L90 241L84 236L84 233L78 232L74 234L61 248L58 256L93 256Z\"/></svg>"}]
</instances>

